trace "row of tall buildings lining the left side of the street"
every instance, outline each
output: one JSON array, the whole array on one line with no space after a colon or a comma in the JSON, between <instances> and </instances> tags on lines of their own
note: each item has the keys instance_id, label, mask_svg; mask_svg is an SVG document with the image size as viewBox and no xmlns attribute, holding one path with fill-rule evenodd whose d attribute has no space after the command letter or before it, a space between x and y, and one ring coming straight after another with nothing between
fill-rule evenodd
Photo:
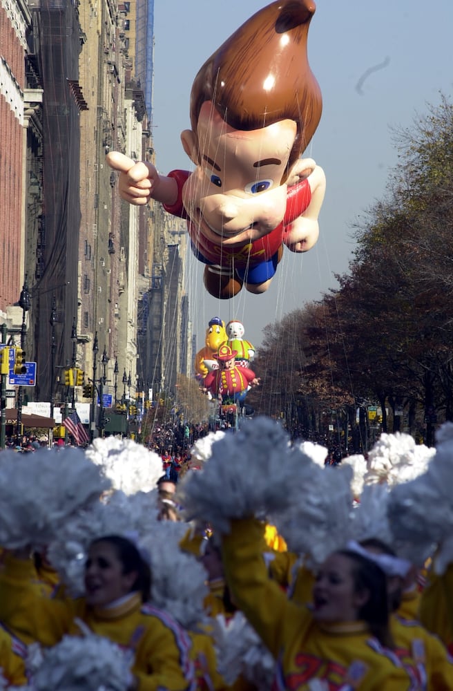
<instances>
[{"instance_id":1,"label":"row of tall buildings lining the left side of the street","mask_svg":"<svg viewBox=\"0 0 453 691\"><path fill-rule=\"evenodd\" d=\"M153 16L153 0L0 0L0 319L26 324L28 396L90 403L93 433L100 392L157 397L190 371L185 224L122 201L105 161L154 160Z\"/></svg>"}]
</instances>

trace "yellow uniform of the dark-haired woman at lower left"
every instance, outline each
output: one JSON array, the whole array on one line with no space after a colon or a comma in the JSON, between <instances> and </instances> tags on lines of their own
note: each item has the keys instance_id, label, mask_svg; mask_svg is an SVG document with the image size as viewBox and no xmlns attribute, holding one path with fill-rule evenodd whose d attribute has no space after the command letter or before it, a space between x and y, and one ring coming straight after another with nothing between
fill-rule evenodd
<instances>
[{"instance_id":1,"label":"yellow uniform of the dark-haired woman at lower left","mask_svg":"<svg viewBox=\"0 0 453 691\"><path fill-rule=\"evenodd\" d=\"M0 621L24 643L51 646L79 635L76 618L99 636L131 650L139 691L184 691L193 681L191 641L173 619L131 593L117 606L88 607L84 598L50 600L32 585L31 560L6 557L0 570Z\"/></svg>"}]
</instances>

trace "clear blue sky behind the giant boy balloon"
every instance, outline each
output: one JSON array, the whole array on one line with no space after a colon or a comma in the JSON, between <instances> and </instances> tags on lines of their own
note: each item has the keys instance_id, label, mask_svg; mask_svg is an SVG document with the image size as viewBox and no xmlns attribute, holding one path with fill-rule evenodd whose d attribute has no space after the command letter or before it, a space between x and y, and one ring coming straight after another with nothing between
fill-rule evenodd
<instances>
[{"instance_id":1,"label":"clear blue sky behind the giant boy balloon","mask_svg":"<svg viewBox=\"0 0 453 691\"><path fill-rule=\"evenodd\" d=\"M191 169L180 132L189 124L189 94L204 60L265 0L155 0L153 133L162 173ZM262 328L336 287L347 271L351 225L385 193L397 164L392 127L410 127L439 92L452 95L453 1L318 0L309 30L309 62L321 87L323 113L307 154L325 170L320 239L304 255L285 252L267 293L242 290L217 301L191 262L188 285L201 347L211 316L240 319L259 346ZM381 66L378 68L378 66ZM376 68L373 70L373 68ZM196 275L195 275L196 274Z\"/></svg>"}]
</instances>

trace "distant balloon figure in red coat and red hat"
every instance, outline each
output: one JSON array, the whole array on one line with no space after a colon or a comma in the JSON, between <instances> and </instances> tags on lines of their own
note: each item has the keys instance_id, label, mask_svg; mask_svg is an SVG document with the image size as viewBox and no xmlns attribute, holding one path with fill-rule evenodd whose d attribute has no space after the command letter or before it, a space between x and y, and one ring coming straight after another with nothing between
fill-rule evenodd
<instances>
[{"instance_id":1,"label":"distant balloon figure in red coat and red hat","mask_svg":"<svg viewBox=\"0 0 453 691\"><path fill-rule=\"evenodd\" d=\"M237 354L227 343L221 345L218 354L214 356L219 368L209 372L203 386L212 395L220 397L223 405L238 404L242 408L247 391L251 386L259 384L260 379L248 367L236 365Z\"/></svg>"}]
</instances>

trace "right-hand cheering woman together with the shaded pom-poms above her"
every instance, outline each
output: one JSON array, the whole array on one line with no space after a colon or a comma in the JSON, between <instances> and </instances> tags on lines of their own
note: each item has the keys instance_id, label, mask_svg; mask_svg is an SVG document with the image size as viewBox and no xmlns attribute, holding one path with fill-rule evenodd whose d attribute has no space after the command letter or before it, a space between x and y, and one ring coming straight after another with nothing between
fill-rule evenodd
<instances>
[{"instance_id":1,"label":"right-hand cheering woman together with the shaded pom-poms above her","mask_svg":"<svg viewBox=\"0 0 453 691\"><path fill-rule=\"evenodd\" d=\"M331 549L345 545L350 479L349 468L319 466L276 422L257 417L215 442L209 462L180 488L187 514L222 534L231 598L276 660L275 689L414 688L393 650L384 572L349 549ZM259 517L275 519L293 549L280 515L296 504L305 507L305 522L294 526L305 549L296 551L317 565L312 609L287 597L263 557Z\"/></svg>"}]
</instances>

